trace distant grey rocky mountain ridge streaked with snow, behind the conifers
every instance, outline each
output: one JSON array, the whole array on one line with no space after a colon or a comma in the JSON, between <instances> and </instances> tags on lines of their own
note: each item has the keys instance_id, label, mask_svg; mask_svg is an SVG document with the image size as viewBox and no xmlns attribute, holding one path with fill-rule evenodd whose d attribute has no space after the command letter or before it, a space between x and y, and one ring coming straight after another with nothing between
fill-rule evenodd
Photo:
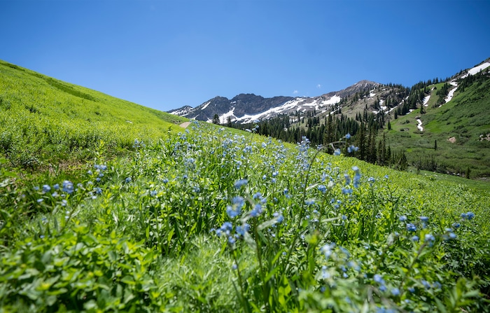
<instances>
[{"instance_id":1,"label":"distant grey rocky mountain ridge streaked with snow, behind the conifers","mask_svg":"<svg viewBox=\"0 0 490 313\"><path fill-rule=\"evenodd\" d=\"M228 119L236 123L250 123L253 120L266 120L281 114L295 114L296 112L317 111L323 113L334 110L335 104L342 99L356 95L356 93L370 95L381 84L372 81L360 81L354 85L335 92L328 92L318 97L272 97L264 98L253 94L240 94L233 99L214 97L200 106L192 108L183 106L168 111L178 116L195 118L211 122L218 114L221 123Z\"/></svg>"}]
</instances>

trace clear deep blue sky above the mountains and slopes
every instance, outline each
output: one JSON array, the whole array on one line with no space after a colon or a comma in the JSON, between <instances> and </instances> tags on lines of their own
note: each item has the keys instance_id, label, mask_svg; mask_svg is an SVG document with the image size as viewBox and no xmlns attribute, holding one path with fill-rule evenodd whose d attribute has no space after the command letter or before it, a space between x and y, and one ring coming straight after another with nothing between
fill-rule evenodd
<instances>
[{"instance_id":1,"label":"clear deep blue sky above the mountains and slopes","mask_svg":"<svg viewBox=\"0 0 490 313\"><path fill-rule=\"evenodd\" d=\"M490 57L489 13L487 0L0 0L0 59L167 111L446 78Z\"/></svg>"}]
</instances>

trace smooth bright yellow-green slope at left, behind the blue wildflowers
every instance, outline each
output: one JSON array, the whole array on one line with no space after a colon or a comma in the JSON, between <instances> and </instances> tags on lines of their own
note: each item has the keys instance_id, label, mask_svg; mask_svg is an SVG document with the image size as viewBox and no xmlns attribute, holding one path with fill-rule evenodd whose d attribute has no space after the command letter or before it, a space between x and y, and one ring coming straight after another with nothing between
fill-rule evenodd
<instances>
[{"instance_id":1,"label":"smooth bright yellow-green slope at left, behind the blue wildflowers","mask_svg":"<svg viewBox=\"0 0 490 313\"><path fill-rule=\"evenodd\" d=\"M0 153L13 165L92 158L101 140L118 153L185 120L0 61Z\"/></svg>"}]
</instances>

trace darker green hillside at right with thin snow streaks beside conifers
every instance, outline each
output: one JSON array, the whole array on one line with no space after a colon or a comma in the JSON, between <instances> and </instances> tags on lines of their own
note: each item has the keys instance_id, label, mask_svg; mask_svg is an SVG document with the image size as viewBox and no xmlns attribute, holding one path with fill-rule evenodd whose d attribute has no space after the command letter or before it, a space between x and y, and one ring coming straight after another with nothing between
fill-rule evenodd
<instances>
[{"instance_id":1,"label":"darker green hillside at right with thin snow streaks beside conifers","mask_svg":"<svg viewBox=\"0 0 490 313\"><path fill-rule=\"evenodd\" d=\"M429 86L426 113L419 110L391 120L388 144L395 151L406 151L409 163L434 171L470 178L490 177L490 78L481 76L461 91L456 90L447 104L436 104L435 92L443 83ZM423 131L417 128L416 117ZM450 140L451 139L451 140Z\"/></svg>"}]
</instances>

